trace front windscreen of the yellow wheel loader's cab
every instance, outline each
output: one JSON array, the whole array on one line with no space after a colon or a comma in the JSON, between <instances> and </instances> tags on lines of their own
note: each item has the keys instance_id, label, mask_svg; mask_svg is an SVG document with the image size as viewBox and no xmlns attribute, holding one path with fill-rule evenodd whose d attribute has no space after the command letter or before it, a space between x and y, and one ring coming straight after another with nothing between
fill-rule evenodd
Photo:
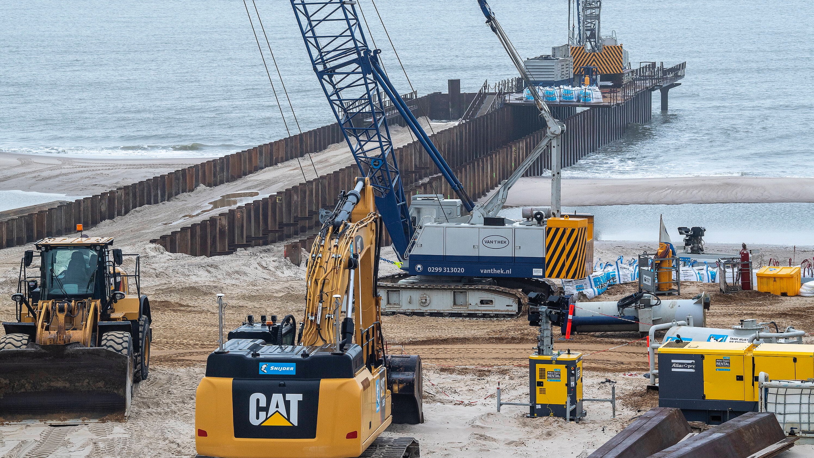
<instances>
[{"instance_id":1,"label":"front windscreen of the yellow wheel loader's cab","mask_svg":"<svg viewBox=\"0 0 814 458\"><path fill-rule=\"evenodd\" d=\"M79 294L92 297L97 254L86 248L58 248L42 253L42 299Z\"/></svg>"}]
</instances>

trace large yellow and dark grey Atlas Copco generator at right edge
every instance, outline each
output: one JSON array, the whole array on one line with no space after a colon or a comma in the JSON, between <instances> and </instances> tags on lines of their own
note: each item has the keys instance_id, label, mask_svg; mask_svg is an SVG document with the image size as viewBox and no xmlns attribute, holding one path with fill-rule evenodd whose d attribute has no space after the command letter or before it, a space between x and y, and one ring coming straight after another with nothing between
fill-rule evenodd
<instances>
[{"instance_id":1,"label":"large yellow and dark grey Atlas Copco generator at right edge","mask_svg":"<svg viewBox=\"0 0 814 458\"><path fill-rule=\"evenodd\" d=\"M814 345L668 341L659 347L659 407L710 425L759 412L760 372L772 380L814 377Z\"/></svg>"}]
</instances>

